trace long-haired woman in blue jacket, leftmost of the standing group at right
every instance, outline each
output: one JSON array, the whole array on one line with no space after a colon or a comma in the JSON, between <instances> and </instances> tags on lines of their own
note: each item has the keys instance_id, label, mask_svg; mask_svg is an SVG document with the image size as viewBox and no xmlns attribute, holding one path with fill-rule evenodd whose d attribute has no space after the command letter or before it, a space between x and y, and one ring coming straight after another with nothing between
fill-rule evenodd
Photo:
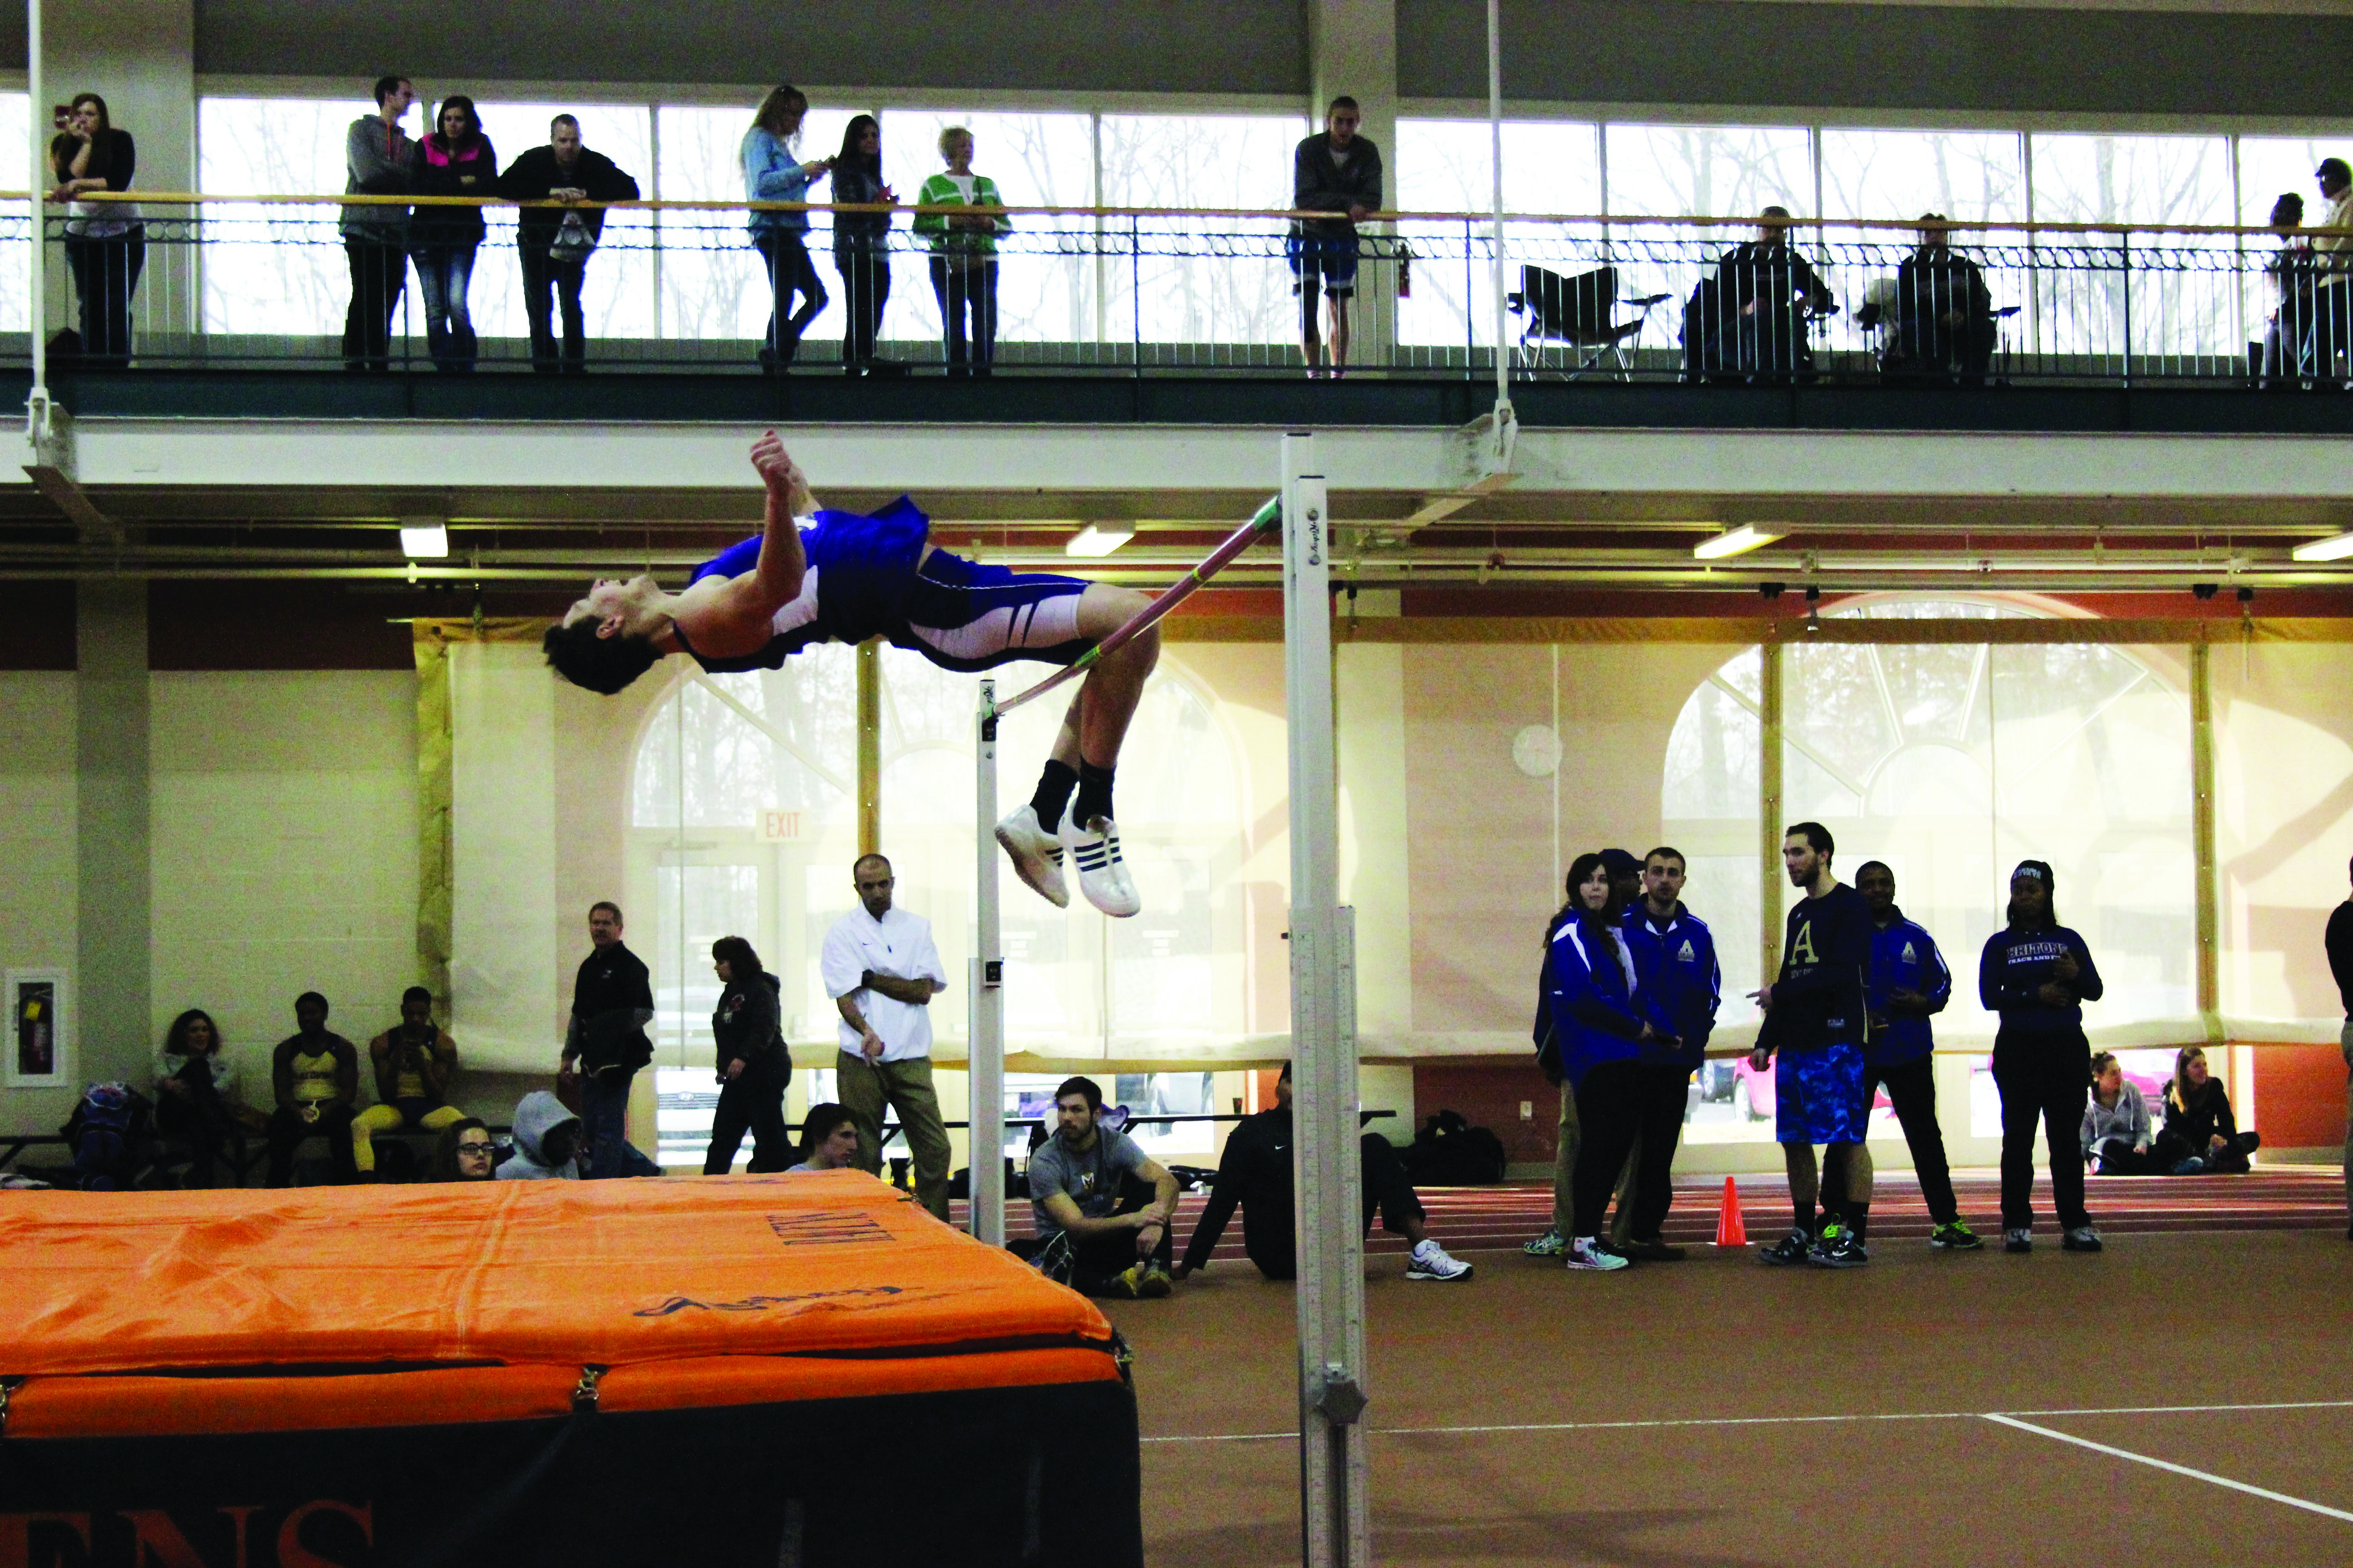
<instances>
[{"instance_id":1,"label":"long-haired woman in blue jacket, leftmost of the standing group at right","mask_svg":"<svg viewBox=\"0 0 2353 1568\"><path fill-rule=\"evenodd\" d=\"M1647 973L1657 943L1626 943L1626 898L1600 856L1586 853L1569 863L1569 907L1574 917L1553 931L1544 978L1560 1065L1577 1091L1577 1121L1584 1128L1567 1267L1624 1269L1626 1255L1600 1234L1602 1213L1635 1135L1642 1140L1635 1192L1645 1190L1645 1180L1664 1182L1666 1166L1675 1159L1682 1095L1668 1105L1661 1095L1645 1093L1657 1067L1645 1067L1642 1046L1649 1041L1657 1051L1678 1041L1659 1011L1657 976ZM1664 1121L1668 1114L1673 1121Z\"/></svg>"}]
</instances>

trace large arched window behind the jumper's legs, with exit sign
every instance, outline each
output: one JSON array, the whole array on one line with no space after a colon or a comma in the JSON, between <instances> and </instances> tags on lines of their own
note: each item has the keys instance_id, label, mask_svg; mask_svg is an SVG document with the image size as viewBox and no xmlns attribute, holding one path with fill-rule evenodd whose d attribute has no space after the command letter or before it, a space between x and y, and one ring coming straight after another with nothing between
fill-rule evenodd
<instances>
[{"instance_id":1,"label":"large arched window behind the jumper's legs, with exit sign","mask_svg":"<svg viewBox=\"0 0 2353 1568\"><path fill-rule=\"evenodd\" d=\"M638 743L631 912L654 969L656 1044L711 1051L708 950L746 936L784 983L791 1039L833 1039L819 976L826 929L849 910L856 856L854 651L826 644L748 675L680 672ZM932 922L948 994L932 1027L967 1034L972 952L972 677L882 656L882 846L896 903ZM1019 675L1016 682L1019 684ZM1061 705L1005 717L1000 790L1021 799ZM1240 780L1209 701L1162 661L1120 759L1120 837L1146 914L1056 910L1002 877L1007 1048L1071 1056L1214 1056L1240 1037Z\"/></svg>"}]
</instances>

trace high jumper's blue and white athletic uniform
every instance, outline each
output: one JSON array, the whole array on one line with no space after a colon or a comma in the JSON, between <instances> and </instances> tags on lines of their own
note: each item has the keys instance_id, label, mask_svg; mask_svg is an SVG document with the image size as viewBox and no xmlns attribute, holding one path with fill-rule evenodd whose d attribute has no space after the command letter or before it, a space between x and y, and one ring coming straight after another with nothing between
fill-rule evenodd
<instances>
[{"instance_id":1,"label":"high jumper's blue and white athletic uniform","mask_svg":"<svg viewBox=\"0 0 2353 1568\"><path fill-rule=\"evenodd\" d=\"M800 595L776 611L774 635L758 654L706 658L685 635L680 646L704 670L776 670L816 642L882 637L894 649L922 654L944 670L993 670L1014 658L1066 665L1089 646L1078 635L1082 578L1012 571L932 550L932 520L899 496L873 517L816 512L800 531L807 571ZM694 569L744 576L760 564L760 536L729 545Z\"/></svg>"}]
</instances>

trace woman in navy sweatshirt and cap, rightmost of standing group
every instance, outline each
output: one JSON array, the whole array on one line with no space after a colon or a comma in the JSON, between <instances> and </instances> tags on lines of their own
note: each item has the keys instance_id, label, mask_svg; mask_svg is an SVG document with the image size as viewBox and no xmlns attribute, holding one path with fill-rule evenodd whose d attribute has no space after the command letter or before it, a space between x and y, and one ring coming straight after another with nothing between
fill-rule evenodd
<instances>
[{"instance_id":1,"label":"woman in navy sweatshirt and cap, rightmost of standing group","mask_svg":"<svg viewBox=\"0 0 2353 1568\"><path fill-rule=\"evenodd\" d=\"M2045 1128L2061 1246L2097 1253L2099 1232L2082 1206L2082 1107L2092 1091L2092 1046L2082 1004L2101 997L2099 969L2082 938L2052 910L2047 860L2009 872L2009 929L1995 931L1977 964L1977 994L2000 1013L1993 1084L2002 1091L2002 1251L2035 1244L2035 1124Z\"/></svg>"}]
</instances>

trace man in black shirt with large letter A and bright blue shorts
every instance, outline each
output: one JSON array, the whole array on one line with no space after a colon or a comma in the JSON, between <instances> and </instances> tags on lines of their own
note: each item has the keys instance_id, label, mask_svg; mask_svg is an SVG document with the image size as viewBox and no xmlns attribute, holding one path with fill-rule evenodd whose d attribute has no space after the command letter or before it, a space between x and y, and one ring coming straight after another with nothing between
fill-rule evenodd
<instances>
[{"instance_id":1,"label":"man in black shirt with large letter A and bright blue shorts","mask_svg":"<svg viewBox=\"0 0 2353 1568\"><path fill-rule=\"evenodd\" d=\"M1857 1159L1864 1145L1864 976L1871 973L1871 907L1861 893L1831 875L1831 830L1798 823L1781 837L1781 865L1805 898L1788 912L1781 973L1753 992L1765 1009L1765 1027L1748 1065L1765 1072L1774 1051L1774 1114L1781 1161L1788 1166L1788 1201L1795 1227L1765 1248L1765 1262L1817 1262L1852 1269L1871 1262L1864 1251L1864 1218L1871 1211L1871 1166ZM1828 1145L1824 1164L1840 1182L1842 1213L1814 1237L1814 1199L1821 1175L1814 1145Z\"/></svg>"}]
</instances>

